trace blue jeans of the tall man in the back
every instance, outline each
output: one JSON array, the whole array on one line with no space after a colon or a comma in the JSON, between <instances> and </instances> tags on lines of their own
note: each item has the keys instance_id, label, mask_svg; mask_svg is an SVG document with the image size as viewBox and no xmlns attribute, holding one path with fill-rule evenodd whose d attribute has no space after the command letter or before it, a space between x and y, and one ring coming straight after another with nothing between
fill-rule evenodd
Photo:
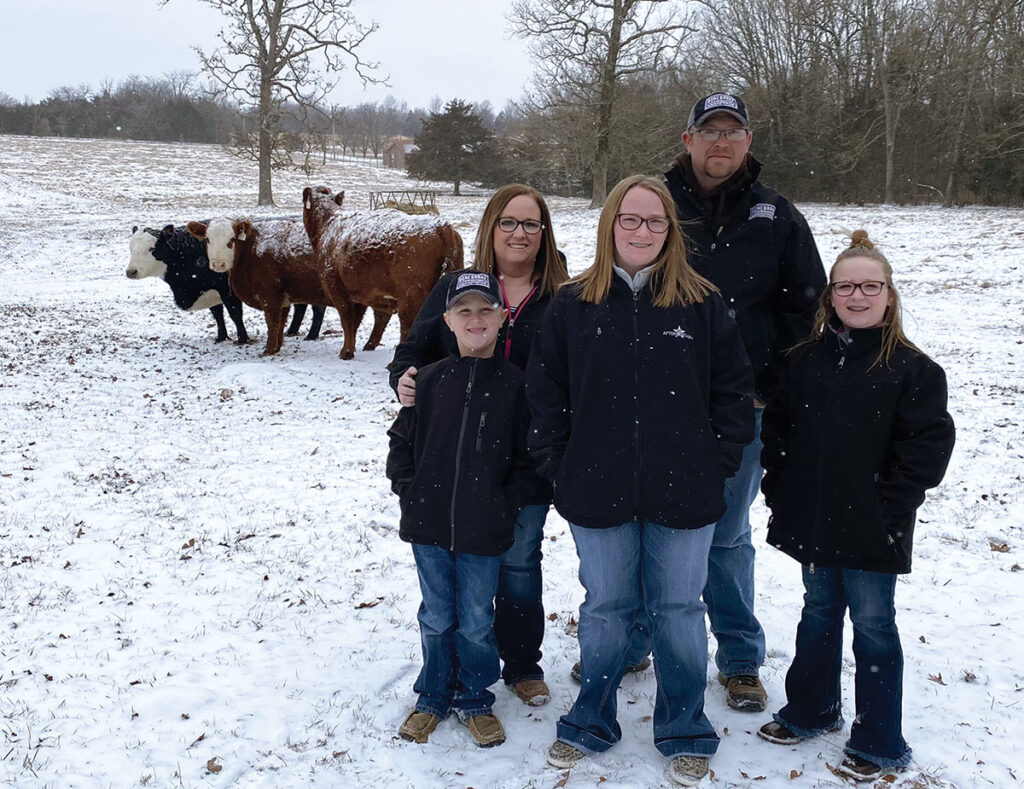
<instances>
[{"instance_id":1,"label":"blue jeans of the tall man in the back","mask_svg":"<svg viewBox=\"0 0 1024 789\"><path fill-rule=\"evenodd\" d=\"M718 643L715 663L723 676L757 675L765 660L765 633L754 615L754 543L751 505L761 487L761 412L754 411L754 441L739 471L725 481L725 515L715 524L703 601Z\"/></svg>"}]
</instances>

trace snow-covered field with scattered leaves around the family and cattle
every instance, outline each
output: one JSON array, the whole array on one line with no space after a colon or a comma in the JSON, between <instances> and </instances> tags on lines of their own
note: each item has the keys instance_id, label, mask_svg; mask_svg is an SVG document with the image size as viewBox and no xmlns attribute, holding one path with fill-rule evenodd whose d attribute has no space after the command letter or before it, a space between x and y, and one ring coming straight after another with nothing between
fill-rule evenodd
<instances>
[{"instance_id":1,"label":"snow-covered field with scattered leaves around the family and cattle","mask_svg":"<svg viewBox=\"0 0 1024 789\"><path fill-rule=\"evenodd\" d=\"M309 182L346 189L348 209L409 183L331 163ZM496 749L475 748L454 720L426 745L396 737L420 665L416 573L384 477L397 320L379 350L341 361L332 310L322 340L287 338L261 358L261 314L246 311L252 344L216 345L209 312L178 310L164 282L124 273L133 224L295 215L306 183L276 174L280 209L256 211L255 171L215 146L0 137L0 783L668 786L651 742L652 671L623 683L622 743L568 775L546 765L575 693L567 625L583 597L554 513L552 702L530 709L496 688L508 734ZM467 251L483 204L440 200ZM579 272L597 212L575 200L551 208ZM957 427L945 483L920 512L914 572L897 586L914 761L880 785L1017 786L1024 212L803 209L826 262L843 227L865 227L889 255L908 334L948 374ZM772 711L802 588L798 565L764 543L760 500L753 515ZM846 660L849 720L849 645ZM705 786L845 785L829 765L847 733L765 743L754 733L768 714L728 709L712 663L708 676L722 744Z\"/></svg>"}]
</instances>

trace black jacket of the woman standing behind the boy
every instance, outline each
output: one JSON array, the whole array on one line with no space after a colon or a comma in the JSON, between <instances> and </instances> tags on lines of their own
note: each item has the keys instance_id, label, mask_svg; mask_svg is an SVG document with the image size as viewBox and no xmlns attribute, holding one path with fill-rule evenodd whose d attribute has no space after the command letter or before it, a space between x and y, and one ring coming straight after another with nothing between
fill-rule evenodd
<instances>
[{"instance_id":1,"label":"black jacket of the woman standing behind the boy","mask_svg":"<svg viewBox=\"0 0 1024 789\"><path fill-rule=\"evenodd\" d=\"M447 301L449 283L453 277L460 273L460 271L455 271L445 274L438 280L427 296L427 300L423 302L423 306L420 307L416 320L413 321L404 341L398 343L398 347L394 349L394 357L388 364L388 369L390 370L391 389L396 393L398 379L410 367L419 369L423 365L443 359L445 356L459 355L459 346L456 343L455 335L444 322L444 304ZM551 297L542 296L538 291L515 314L510 311L509 319L505 321L498 333L495 353L503 356L507 345L509 361L519 369L525 369L530 349L534 347L534 338L541 328L541 320L550 301ZM511 338L511 342L508 342L509 338ZM419 377L417 377L416 388L419 392ZM529 500L523 501L523 503L550 505L551 486L540 478L537 478L535 482L534 494Z\"/></svg>"}]
</instances>

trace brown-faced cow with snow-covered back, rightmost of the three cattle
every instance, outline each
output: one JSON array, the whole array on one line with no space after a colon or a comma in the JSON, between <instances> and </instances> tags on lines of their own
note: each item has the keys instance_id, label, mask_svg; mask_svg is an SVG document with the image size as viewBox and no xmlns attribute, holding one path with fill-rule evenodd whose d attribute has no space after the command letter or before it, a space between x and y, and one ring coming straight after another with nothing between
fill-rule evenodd
<instances>
[{"instance_id":1,"label":"brown-faced cow with snow-covered back, rightmost of the three cattle","mask_svg":"<svg viewBox=\"0 0 1024 789\"><path fill-rule=\"evenodd\" d=\"M355 330L366 308L398 313L400 340L441 274L462 268L462 236L437 217L390 209L343 213L345 192L302 190L302 223L324 291L341 315L341 358L355 355Z\"/></svg>"}]
</instances>

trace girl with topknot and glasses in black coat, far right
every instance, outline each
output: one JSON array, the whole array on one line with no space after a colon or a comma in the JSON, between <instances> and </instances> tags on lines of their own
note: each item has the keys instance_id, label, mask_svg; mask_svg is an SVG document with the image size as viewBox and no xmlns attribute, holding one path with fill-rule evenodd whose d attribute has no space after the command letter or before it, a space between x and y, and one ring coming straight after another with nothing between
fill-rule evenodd
<instances>
[{"instance_id":1,"label":"girl with topknot and glasses in black coat, far right","mask_svg":"<svg viewBox=\"0 0 1024 789\"><path fill-rule=\"evenodd\" d=\"M945 374L906 339L900 317L892 269L858 230L761 433L768 541L803 565L805 595L787 703L758 734L791 745L843 728L849 608L856 718L837 772L855 781L910 761L896 576L910 571L915 511L942 480L954 439Z\"/></svg>"}]
</instances>

